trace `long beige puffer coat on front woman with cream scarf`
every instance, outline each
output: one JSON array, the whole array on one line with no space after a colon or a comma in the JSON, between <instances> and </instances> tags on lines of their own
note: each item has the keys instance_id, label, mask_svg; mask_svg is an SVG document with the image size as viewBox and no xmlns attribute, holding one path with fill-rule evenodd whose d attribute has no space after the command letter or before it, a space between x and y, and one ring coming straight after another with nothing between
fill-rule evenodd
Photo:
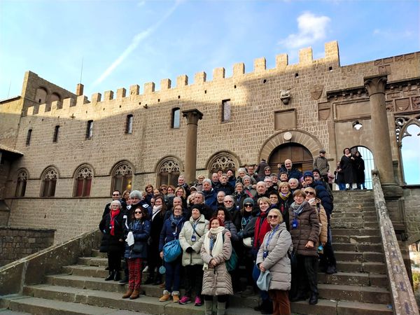
<instances>
[{"instance_id":1,"label":"long beige puffer coat on front woman with cream scarf","mask_svg":"<svg viewBox=\"0 0 420 315\"><path fill-rule=\"evenodd\" d=\"M224 239L223 251L216 257L212 257L210 253L207 253L204 244L202 246L200 252L202 260L209 264L210 260L214 258L217 262L216 268L209 267L204 270L202 295L233 295L232 278L225 264L232 254L232 243L230 243L230 237L224 236L226 232L228 230L222 232Z\"/></svg>"}]
</instances>

